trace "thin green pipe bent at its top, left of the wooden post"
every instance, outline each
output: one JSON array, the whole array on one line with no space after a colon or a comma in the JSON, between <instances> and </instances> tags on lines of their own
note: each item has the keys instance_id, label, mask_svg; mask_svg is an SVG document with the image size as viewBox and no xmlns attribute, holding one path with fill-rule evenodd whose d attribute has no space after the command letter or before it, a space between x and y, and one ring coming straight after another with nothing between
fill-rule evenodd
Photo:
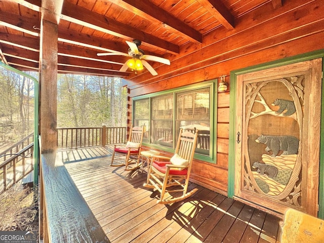
<instances>
[{"instance_id":1,"label":"thin green pipe bent at its top, left of the wooden post","mask_svg":"<svg viewBox=\"0 0 324 243\"><path fill-rule=\"evenodd\" d=\"M38 97L39 97L39 84L36 78L33 76L30 76L27 73L24 73L16 68L13 68L9 65L6 65L5 63L0 61L0 66L9 70L16 72L22 76L25 76L31 80L34 81L35 87L34 87L34 151L33 151L33 157L34 157L34 186L38 186L38 161L39 161L39 144L38 144Z\"/></svg>"}]
</instances>

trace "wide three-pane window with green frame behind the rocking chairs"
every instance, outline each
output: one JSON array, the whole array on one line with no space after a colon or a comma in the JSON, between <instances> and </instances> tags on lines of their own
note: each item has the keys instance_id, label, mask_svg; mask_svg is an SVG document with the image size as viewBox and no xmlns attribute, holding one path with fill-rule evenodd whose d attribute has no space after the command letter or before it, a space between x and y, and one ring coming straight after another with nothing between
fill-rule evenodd
<instances>
[{"instance_id":1,"label":"wide three-pane window with green frame behind the rocking chairs","mask_svg":"<svg viewBox=\"0 0 324 243\"><path fill-rule=\"evenodd\" d=\"M214 123L214 107L217 107L214 94L217 92L214 91L214 82L217 85L216 80L212 80L134 97L134 125L146 125L143 143L172 152L180 128L190 132L198 131L195 157L215 161L216 142L213 141L212 133L217 131Z\"/></svg>"}]
</instances>

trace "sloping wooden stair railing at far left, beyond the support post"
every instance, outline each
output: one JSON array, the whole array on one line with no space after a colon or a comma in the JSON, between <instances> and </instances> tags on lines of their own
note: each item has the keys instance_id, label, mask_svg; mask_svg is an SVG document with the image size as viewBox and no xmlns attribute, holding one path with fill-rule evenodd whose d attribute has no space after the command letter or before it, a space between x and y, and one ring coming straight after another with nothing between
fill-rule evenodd
<instances>
[{"instance_id":1,"label":"sloping wooden stair railing at far left, beyond the support post","mask_svg":"<svg viewBox=\"0 0 324 243\"><path fill-rule=\"evenodd\" d=\"M32 142L20 151L13 150L10 155L1 155L10 157L0 164L0 192L7 190L33 171L33 148Z\"/></svg>"}]
</instances>

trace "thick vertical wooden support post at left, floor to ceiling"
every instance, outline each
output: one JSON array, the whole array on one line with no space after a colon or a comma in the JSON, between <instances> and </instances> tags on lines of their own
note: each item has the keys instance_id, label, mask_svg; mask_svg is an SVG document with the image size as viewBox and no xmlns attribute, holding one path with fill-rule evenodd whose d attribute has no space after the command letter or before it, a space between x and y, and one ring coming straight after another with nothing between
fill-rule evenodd
<instances>
[{"instance_id":1,"label":"thick vertical wooden support post at left, floor to ceiling","mask_svg":"<svg viewBox=\"0 0 324 243\"><path fill-rule=\"evenodd\" d=\"M57 39L60 1L42 1L41 38L39 48L39 131L40 153L57 150ZM56 13L56 14L55 14ZM41 168L42 169L42 168ZM47 220L45 188L41 172L41 200L39 205L39 237L51 242Z\"/></svg>"}]
</instances>

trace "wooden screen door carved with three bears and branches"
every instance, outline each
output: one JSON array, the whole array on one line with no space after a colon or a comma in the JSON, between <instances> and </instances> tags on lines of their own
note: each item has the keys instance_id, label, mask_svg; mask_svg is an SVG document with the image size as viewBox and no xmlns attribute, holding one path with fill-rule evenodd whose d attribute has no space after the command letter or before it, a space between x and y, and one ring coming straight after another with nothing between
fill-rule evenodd
<instances>
[{"instance_id":1,"label":"wooden screen door carved with three bears and branches","mask_svg":"<svg viewBox=\"0 0 324 243\"><path fill-rule=\"evenodd\" d=\"M322 60L237 76L234 197L317 216Z\"/></svg>"}]
</instances>

